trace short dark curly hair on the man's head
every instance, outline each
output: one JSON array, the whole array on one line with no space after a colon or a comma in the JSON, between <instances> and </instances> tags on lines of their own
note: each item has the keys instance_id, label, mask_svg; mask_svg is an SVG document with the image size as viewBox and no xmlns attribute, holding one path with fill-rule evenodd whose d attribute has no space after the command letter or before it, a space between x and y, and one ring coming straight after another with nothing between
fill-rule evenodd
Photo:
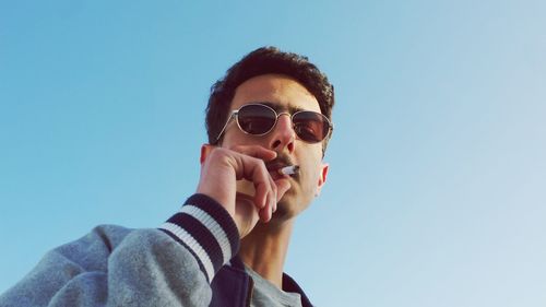
<instances>
[{"instance_id":1,"label":"short dark curly hair on the man's head","mask_svg":"<svg viewBox=\"0 0 546 307\"><path fill-rule=\"evenodd\" d=\"M262 74L283 74L293 78L307 88L319 102L321 113L331 119L334 105L334 87L328 78L308 58L275 47L262 47L245 56L229 68L211 87L206 107L206 132L210 144L216 141L229 115L235 91L245 81ZM331 134L330 134L331 135ZM330 135L322 143L324 154Z\"/></svg>"}]
</instances>

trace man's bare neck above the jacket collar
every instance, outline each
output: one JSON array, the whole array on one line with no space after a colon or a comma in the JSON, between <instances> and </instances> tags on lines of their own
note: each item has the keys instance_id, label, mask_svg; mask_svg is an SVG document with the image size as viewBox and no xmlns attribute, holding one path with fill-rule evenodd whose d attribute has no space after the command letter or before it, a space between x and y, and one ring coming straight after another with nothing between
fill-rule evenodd
<instances>
[{"instance_id":1,"label":"man's bare neck above the jacket collar","mask_svg":"<svg viewBox=\"0 0 546 307\"><path fill-rule=\"evenodd\" d=\"M242 262L278 288L283 285L283 268L293 226L294 220L258 223L240 244Z\"/></svg>"}]
</instances>

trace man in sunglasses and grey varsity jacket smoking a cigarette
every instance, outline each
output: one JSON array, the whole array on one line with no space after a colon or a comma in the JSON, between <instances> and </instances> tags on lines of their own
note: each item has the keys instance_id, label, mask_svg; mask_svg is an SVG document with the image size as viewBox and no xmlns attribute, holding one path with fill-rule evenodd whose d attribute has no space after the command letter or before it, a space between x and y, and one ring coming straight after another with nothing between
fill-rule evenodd
<instances>
[{"instance_id":1,"label":"man in sunglasses and grey varsity jacket smoking a cigarette","mask_svg":"<svg viewBox=\"0 0 546 307\"><path fill-rule=\"evenodd\" d=\"M333 86L273 47L211 91L197 193L159 229L103 225L48 252L0 306L311 306L283 273L296 216L319 194Z\"/></svg>"}]
</instances>

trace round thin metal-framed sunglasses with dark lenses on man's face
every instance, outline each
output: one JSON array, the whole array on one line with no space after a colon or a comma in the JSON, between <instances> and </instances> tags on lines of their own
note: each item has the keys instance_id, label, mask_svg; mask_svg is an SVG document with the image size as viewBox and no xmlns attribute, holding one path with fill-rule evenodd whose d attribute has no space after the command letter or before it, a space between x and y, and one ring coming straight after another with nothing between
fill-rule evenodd
<instances>
[{"instance_id":1,"label":"round thin metal-framed sunglasses with dark lenses on man's face","mask_svg":"<svg viewBox=\"0 0 546 307\"><path fill-rule=\"evenodd\" d=\"M273 108L266 105L248 104L232 111L226 125L224 125L224 128L219 131L216 142L226 130L229 121L234 118L242 132L252 135L265 135L273 130L281 115L290 117L296 135L307 143L321 142L333 129L330 120L320 113L299 110L293 115L288 113L277 114Z\"/></svg>"}]
</instances>

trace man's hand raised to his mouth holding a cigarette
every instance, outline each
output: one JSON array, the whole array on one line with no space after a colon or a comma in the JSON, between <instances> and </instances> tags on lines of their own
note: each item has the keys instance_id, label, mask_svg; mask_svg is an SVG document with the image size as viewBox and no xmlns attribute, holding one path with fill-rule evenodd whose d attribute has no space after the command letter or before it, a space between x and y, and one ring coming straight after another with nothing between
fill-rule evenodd
<instances>
[{"instance_id":1,"label":"man's hand raised to his mouth holding a cigarette","mask_svg":"<svg viewBox=\"0 0 546 307\"><path fill-rule=\"evenodd\" d=\"M290 188L287 179L273 180L265 168L264 162L275 157L276 152L259 145L232 149L203 145L197 192L213 198L227 210L241 238L253 229L259 220L271 220L277 201ZM236 182L241 179L253 184L253 198L237 192Z\"/></svg>"}]
</instances>

